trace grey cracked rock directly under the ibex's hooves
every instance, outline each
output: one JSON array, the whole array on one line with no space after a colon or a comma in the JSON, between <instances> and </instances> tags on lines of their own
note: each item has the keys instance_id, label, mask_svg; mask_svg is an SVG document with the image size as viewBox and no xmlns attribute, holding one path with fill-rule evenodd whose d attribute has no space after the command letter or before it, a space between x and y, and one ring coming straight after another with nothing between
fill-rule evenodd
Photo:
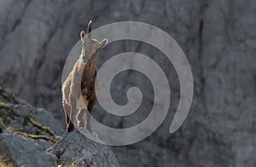
<instances>
[{"instance_id":1,"label":"grey cracked rock directly under the ibex's hooves","mask_svg":"<svg viewBox=\"0 0 256 167\"><path fill-rule=\"evenodd\" d=\"M91 141L79 131L65 133L60 141L49 148L49 153L55 154L60 163L72 164L75 162L77 166L81 167L119 167L119 162L109 147Z\"/></svg>"}]
</instances>

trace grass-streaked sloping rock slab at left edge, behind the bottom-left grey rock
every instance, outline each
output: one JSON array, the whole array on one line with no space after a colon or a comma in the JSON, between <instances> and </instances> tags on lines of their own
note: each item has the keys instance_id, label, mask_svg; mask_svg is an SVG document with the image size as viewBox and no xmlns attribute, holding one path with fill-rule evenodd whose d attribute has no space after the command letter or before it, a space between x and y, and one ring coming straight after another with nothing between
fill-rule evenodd
<instances>
[{"instance_id":1,"label":"grass-streaked sloping rock slab at left edge, behind the bottom-left grey rock","mask_svg":"<svg viewBox=\"0 0 256 167\"><path fill-rule=\"evenodd\" d=\"M38 141L40 144L55 142L64 132L63 126L51 112L32 107L26 101L10 95L2 86L0 86L0 127L15 134L44 140Z\"/></svg>"}]
</instances>

